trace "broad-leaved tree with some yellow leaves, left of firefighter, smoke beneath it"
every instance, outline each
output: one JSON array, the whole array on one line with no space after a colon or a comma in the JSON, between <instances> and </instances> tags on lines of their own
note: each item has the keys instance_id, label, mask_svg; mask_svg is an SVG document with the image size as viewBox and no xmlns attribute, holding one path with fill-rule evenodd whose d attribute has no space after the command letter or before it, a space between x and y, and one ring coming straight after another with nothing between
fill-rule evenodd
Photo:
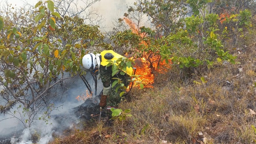
<instances>
[{"instance_id":1,"label":"broad-leaved tree with some yellow leaves, left of firefighter, smoke beneath it","mask_svg":"<svg viewBox=\"0 0 256 144\"><path fill-rule=\"evenodd\" d=\"M20 120L25 126L36 114L49 116L54 108L50 101L56 96L53 87L85 74L81 58L90 49L84 49L104 46L97 26L61 17L53 1L39 1L35 9L18 18L15 12L0 17L0 96L5 100L0 114L20 103L23 110L15 112L24 113L26 118Z\"/></svg>"}]
</instances>

